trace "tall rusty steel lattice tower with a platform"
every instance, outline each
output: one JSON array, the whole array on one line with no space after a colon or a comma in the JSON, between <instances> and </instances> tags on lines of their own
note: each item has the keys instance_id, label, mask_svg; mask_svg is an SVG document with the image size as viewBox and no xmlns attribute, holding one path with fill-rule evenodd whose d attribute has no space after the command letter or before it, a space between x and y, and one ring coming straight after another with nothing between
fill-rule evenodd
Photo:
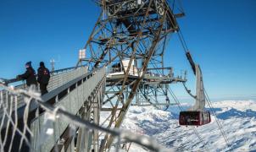
<instances>
[{"instance_id":1,"label":"tall rusty steel lattice tower with a platform","mask_svg":"<svg viewBox=\"0 0 256 152\"><path fill-rule=\"evenodd\" d=\"M107 78L106 95L98 107L109 115L102 120L103 126L120 128L129 106L168 106L168 84L186 81L173 78L172 68L164 67L166 43L170 34L179 30L177 15L165 0L95 2L102 11L84 46L86 59L78 63L86 62L90 69L107 67L109 73L119 72ZM159 95L165 96L164 103L158 100ZM99 112L92 115L99 124ZM105 151L113 144L114 137L103 137L99 142L99 133L94 132L95 151Z\"/></svg>"}]
</instances>

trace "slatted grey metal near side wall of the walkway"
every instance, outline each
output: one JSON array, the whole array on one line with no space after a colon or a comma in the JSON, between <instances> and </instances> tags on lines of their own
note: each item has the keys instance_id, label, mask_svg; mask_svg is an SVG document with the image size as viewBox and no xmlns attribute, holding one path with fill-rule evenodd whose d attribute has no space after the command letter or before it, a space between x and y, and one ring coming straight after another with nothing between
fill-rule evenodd
<instances>
[{"instance_id":1,"label":"slatted grey metal near side wall of the walkway","mask_svg":"<svg viewBox=\"0 0 256 152\"><path fill-rule=\"evenodd\" d=\"M77 73L81 72L78 70ZM93 71L92 73L82 74L78 78L65 82L67 83L63 83L47 95L43 95L42 100L53 100L54 106L64 108L65 111L78 116L82 116L84 114L89 114L90 116L93 110L92 106L93 108L99 108L100 101L103 100L104 95L105 68ZM45 123L43 123L44 117L45 113L42 113L42 115L36 117L36 119L31 122L31 130L35 135L35 139L40 139L38 138L40 129L47 128L47 126L44 126ZM84 118L86 120L90 119L90 117ZM94 122L97 123L98 119L94 119ZM64 134L65 130L69 130L68 127L69 123L56 119L53 122L53 136L50 136L50 138L48 138L41 147L36 147L40 141L32 140L33 148L36 149L36 151L51 151L54 145L58 143L59 149L64 146L64 143L66 142L64 141L64 138L73 138L73 136L75 136L75 134ZM71 144L72 142L74 142L74 138L68 145L74 146L74 144Z\"/></svg>"}]
</instances>

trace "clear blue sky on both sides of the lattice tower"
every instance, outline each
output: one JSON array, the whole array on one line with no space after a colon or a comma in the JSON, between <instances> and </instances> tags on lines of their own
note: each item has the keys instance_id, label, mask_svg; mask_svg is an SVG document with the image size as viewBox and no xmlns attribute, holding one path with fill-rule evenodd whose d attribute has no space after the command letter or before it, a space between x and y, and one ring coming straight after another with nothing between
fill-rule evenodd
<instances>
[{"instance_id":1,"label":"clear blue sky on both sides of the lattice tower","mask_svg":"<svg viewBox=\"0 0 256 152\"><path fill-rule=\"evenodd\" d=\"M186 16L178 19L195 62L201 65L205 88L212 98L256 96L256 1L182 1ZM24 64L75 66L78 50L92 31L100 9L91 0L0 0L0 77L14 78ZM177 35L167 47L166 65L194 77ZM172 88L186 96L181 85Z\"/></svg>"}]
</instances>

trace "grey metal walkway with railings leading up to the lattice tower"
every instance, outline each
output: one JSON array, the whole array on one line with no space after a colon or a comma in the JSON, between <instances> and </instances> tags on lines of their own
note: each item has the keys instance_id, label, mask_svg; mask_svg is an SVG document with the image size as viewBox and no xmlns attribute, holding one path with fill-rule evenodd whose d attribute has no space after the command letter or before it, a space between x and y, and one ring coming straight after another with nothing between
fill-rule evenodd
<instances>
[{"instance_id":1,"label":"grey metal walkway with railings leading up to the lattice tower","mask_svg":"<svg viewBox=\"0 0 256 152\"><path fill-rule=\"evenodd\" d=\"M42 100L49 105L62 108L65 111L70 112L70 114L80 116L85 120L92 120L92 122L98 124L99 108L104 96L105 81L105 68L96 69L92 72L87 72L87 68L85 67L57 70L52 73L49 85L47 86L49 92L46 95L42 95ZM7 81L6 84L14 82L15 80L13 79ZM26 89L26 86L25 84L21 84L17 85L16 88ZM11 97L8 91L1 91L3 91L2 96L3 100L6 100L6 103L4 104L8 107L7 109L14 110L12 115L17 112L19 117L18 121L22 121L26 108L25 104L27 104L25 101L27 97L25 95L17 96L18 111L15 111L15 104L10 103L12 100L10 100ZM27 151L31 148L33 149L32 151L51 151L60 149L65 149L66 151L67 148L71 150L72 146L72 149L74 149L75 133L69 133L71 127L70 124L59 119L46 120L46 115L47 111L42 110L36 103L31 103L27 121L34 136L30 138L31 147L29 148L25 145L22 151ZM1 109L0 117L1 122L3 119L7 119L3 116L3 109ZM6 120L6 122L7 121L8 120ZM23 128L23 126L20 126L19 128ZM47 133L47 130L45 129L49 128L53 129L53 134L49 137L47 137L47 134L44 134L44 136L42 133ZM11 130L12 128L8 129ZM75 130L84 133L79 128L75 128ZM1 130L1 133L3 133L3 129ZM97 132L94 134L94 138L97 139ZM46 138L47 140L45 140ZM14 141L13 144L17 144L17 146L14 145L12 150L15 151L16 148L17 151L19 151L19 138L16 138L16 140L17 141ZM87 141L89 142L89 140ZM97 140L95 140L94 144L97 144L96 141ZM77 142L83 144L80 148L84 151L85 137L78 138Z\"/></svg>"}]
</instances>

